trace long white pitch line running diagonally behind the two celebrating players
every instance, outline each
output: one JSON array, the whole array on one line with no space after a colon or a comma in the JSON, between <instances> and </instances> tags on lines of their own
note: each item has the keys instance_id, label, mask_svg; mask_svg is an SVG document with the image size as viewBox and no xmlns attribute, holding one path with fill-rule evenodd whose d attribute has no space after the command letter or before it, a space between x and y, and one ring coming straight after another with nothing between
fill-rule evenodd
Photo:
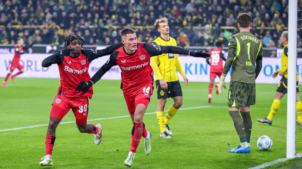
<instances>
[{"instance_id":1,"label":"long white pitch line running diagonally behind the two celebrating players","mask_svg":"<svg viewBox=\"0 0 302 169\"><path fill-rule=\"evenodd\" d=\"M208 107L212 107L212 106L200 106L200 107L189 107L189 108L182 108L182 109L178 109L178 110L191 110L191 109L202 109L202 108L208 108ZM167 110L165 110L167 111ZM145 115L151 115L151 114L155 114L155 112L151 112L151 113L145 113ZM107 120L107 119L119 119L119 118L125 118L125 117L130 117L130 115L124 115L124 116L116 116L116 117L107 117L107 118L99 118L99 119L92 119L92 120L87 120L87 121L95 121L95 120ZM66 121L66 122L61 122L60 124L68 124L68 123L75 123L76 121ZM32 125L32 126L27 126L27 127L18 127L18 128L13 128L13 129L4 129L4 130L0 130L0 132L2 131L12 131L12 130L20 130L20 129L28 129L28 128L34 128L34 127L41 127L41 126L47 126L48 124L42 124L42 125Z\"/></svg>"}]
</instances>

